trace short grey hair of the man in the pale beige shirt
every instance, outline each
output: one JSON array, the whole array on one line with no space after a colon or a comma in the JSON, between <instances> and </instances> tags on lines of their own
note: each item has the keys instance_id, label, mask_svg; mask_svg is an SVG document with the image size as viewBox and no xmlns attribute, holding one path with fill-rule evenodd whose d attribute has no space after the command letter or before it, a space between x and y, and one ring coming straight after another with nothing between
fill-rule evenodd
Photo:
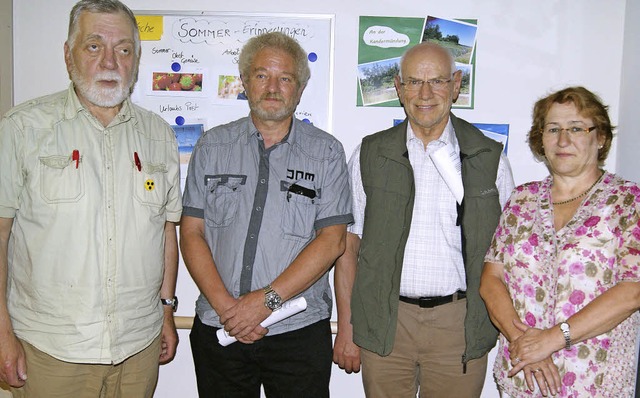
<instances>
[{"instance_id":1,"label":"short grey hair of the man in the pale beige shirt","mask_svg":"<svg viewBox=\"0 0 640 398\"><path fill-rule=\"evenodd\" d=\"M98 14L124 14L129 19L129 22L131 22L131 28L133 29L136 58L140 57L140 32L138 31L138 22L131 9L118 0L81 0L77 2L69 14L69 33L67 36L69 48L73 49L75 45L80 15L85 11Z\"/></svg>"}]
</instances>

